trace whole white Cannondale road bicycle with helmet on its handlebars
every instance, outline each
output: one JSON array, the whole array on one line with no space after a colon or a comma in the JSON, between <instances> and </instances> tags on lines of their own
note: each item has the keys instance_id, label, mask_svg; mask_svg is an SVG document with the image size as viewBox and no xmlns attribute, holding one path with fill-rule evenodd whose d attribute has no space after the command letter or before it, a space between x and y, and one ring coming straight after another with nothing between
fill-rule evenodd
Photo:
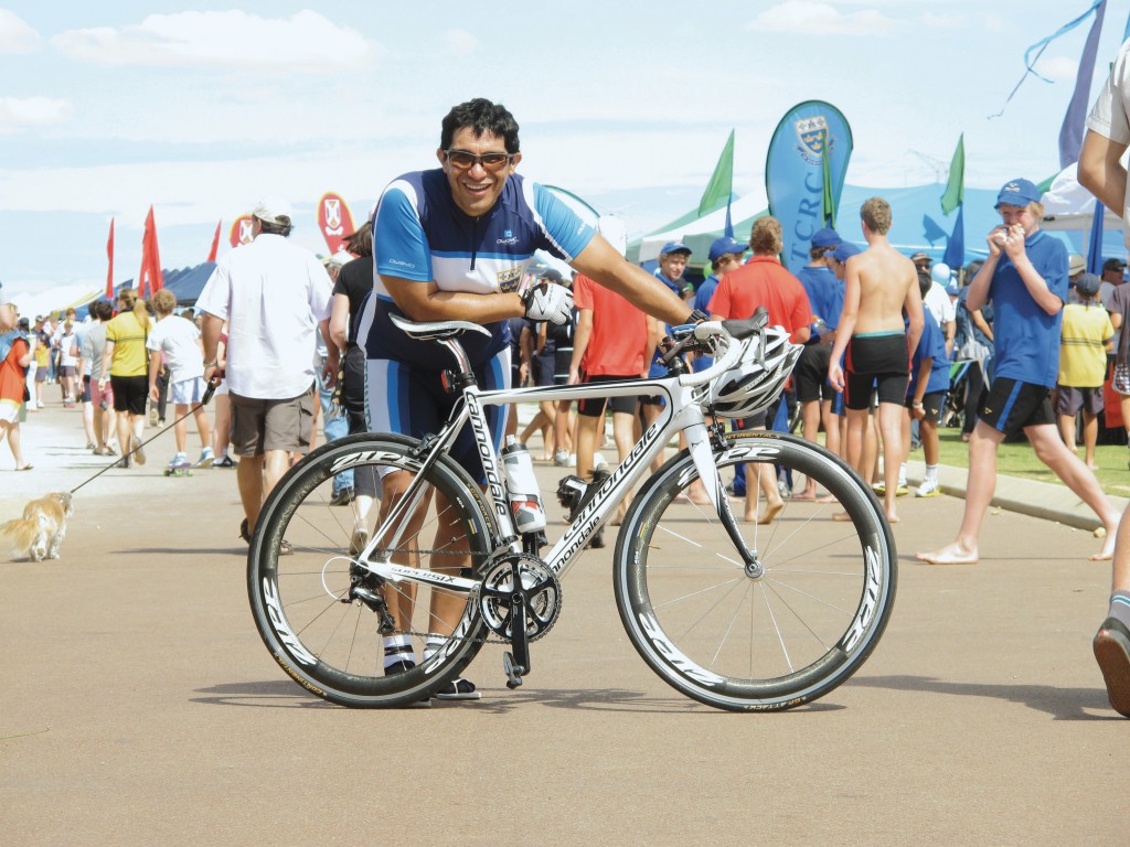
<instances>
[{"instance_id":1,"label":"whole white Cannondale road bicycle with helmet on its handlebars","mask_svg":"<svg viewBox=\"0 0 1130 847\"><path fill-rule=\"evenodd\" d=\"M616 539L616 604L628 638L666 682L716 708L779 710L826 695L883 635L895 544L870 488L834 454L789 435L724 431L720 417L746 417L780 395L799 353L783 330L764 323L759 314L677 328L661 378L481 391L457 338L483 328L398 321L451 351L457 364L445 378L462 396L424 440L349 436L286 473L247 556L251 608L267 648L301 686L344 706L426 699L495 640L508 645L507 684L520 686L531 643L557 620L565 574L681 431L689 447L643 481ZM687 351L713 353L715 364L688 373ZM572 504L564 534L551 545L539 533L519 534L484 405L637 394L661 394L662 414L623 464ZM485 486L447 455L468 425ZM739 522L721 474L740 463L751 490L762 474L776 482L791 472L814 478L836 503L789 499L768 525ZM354 510L330 505L333 475L344 470L373 474L377 491L393 471L409 472L410 482L362 525ZM699 479L707 506L685 496ZM840 510L847 519L832 521ZM284 544L290 552L282 555ZM417 664L385 675L382 636L397 634Z\"/></svg>"}]
</instances>

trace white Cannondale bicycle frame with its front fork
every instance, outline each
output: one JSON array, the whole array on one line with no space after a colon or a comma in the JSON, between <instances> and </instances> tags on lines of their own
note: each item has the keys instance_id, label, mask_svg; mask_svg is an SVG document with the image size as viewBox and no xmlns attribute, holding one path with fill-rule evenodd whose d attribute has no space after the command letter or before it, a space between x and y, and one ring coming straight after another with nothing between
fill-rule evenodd
<instances>
[{"instance_id":1,"label":"white Cannondale bicycle frame with its front fork","mask_svg":"<svg viewBox=\"0 0 1130 847\"><path fill-rule=\"evenodd\" d=\"M463 355L462 348L458 342L444 340L441 343L454 353L462 373L469 374L470 367L467 365L466 355ZM737 347L734 344L731 349L737 351ZM395 527L407 524L408 516L417 507L419 498L423 496L423 487L419 480L423 478L424 471L454 444L459 433L462 431L468 422L471 426L471 431L478 446L479 460L483 464L484 479L486 480L486 492L498 529L498 543L496 548L508 545L512 552L516 553L521 551L522 540L515 533L511 519L510 503L506 499L498 454L487 428L486 414L483 411L483 407L515 402L661 394L666 398L667 404L660 418L647 427L640 440L632 448L632 452L624 462L616 466L596 496L590 499L585 508L573 516L573 521L566 527L565 533L545 557L546 566L558 578L564 577L576 560L577 553L584 549L585 544L605 523L611 510L619 506L632 487L644 475L651 462L660 455L661 451L679 431L686 435L698 475L705 483L711 504L718 510L720 519L734 540L737 551L745 559L746 565L754 566L756 562L756 551L747 549L737 527L737 521L730 509L729 499L724 495L718 466L714 463L710 433L706 427L705 417L699 408L701 401L698 399L699 393L706 390L705 385L709 384L711 375L730 367L736 358L737 355L728 356L725 359L716 363L710 370L694 375L675 374L649 379L494 391L483 391L477 384L466 385L460 401L455 404L443 429L438 435L425 443L426 456L421 468L416 472L415 479L409 483L400 501L392 507L385 519L376 527L368 544L358 555L358 562L370 568L377 576L386 579L397 582L409 579L454 591L475 591L479 584L476 579L397 565L388 559L388 553L384 558L373 559L371 557L377 549L389 550L395 547L395 542L400 538L400 530ZM706 378L703 378L704 375Z\"/></svg>"}]
</instances>

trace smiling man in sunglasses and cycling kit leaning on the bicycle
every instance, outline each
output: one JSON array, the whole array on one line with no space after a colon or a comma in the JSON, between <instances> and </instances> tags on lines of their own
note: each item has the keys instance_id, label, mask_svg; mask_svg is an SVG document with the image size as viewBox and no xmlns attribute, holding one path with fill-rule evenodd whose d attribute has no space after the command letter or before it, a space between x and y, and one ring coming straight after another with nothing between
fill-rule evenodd
<instances>
[{"instance_id":1,"label":"smiling man in sunglasses and cycling kit leaning on the bicycle","mask_svg":"<svg viewBox=\"0 0 1130 847\"><path fill-rule=\"evenodd\" d=\"M454 106L443 119L436 158L438 168L393 180L374 212L375 296L365 339L371 430L421 438L438 431L455 402L442 383L446 353L409 339L391 315L417 322L470 321L487 328L489 338L464 339L476 378L486 390L510 387L506 321L524 315L563 323L573 305L571 291L554 282L520 290L536 250L568 262L664 323L689 320L686 304L673 292L626 262L553 194L518 175L522 160L518 123L501 104L477 98ZM505 408L490 409L496 447L505 431ZM455 443L452 457L483 482L469 433ZM402 471L383 480L385 508L409 481ZM445 609L446 603L458 605L461 600L435 597L434 621L459 619L458 610ZM391 605L398 622L410 617L408 597ZM410 669L417 661L402 635L385 637L384 654L385 673ZM438 696L478 695L472 683L457 679Z\"/></svg>"}]
</instances>

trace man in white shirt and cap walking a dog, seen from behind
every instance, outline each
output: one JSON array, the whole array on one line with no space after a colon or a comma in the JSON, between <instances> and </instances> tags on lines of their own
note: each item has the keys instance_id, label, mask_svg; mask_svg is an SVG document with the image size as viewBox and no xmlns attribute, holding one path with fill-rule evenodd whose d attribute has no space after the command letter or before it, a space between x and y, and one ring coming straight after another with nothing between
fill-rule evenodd
<instances>
[{"instance_id":1,"label":"man in white shirt and cap walking a dog, seen from behind","mask_svg":"<svg viewBox=\"0 0 1130 847\"><path fill-rule=\"evenodd\" d=\"M251 244L227 253L200 292L205 381L227 381L232 443L250 540L263 498L310 446L314 405L314 341L329 341L333 289L313 253L286 241L290 216L281 203L252 212ZM287 209L288 211L288 209ZM227 322L227 370L216 373L220 331ZM338 372L338 348L327 343L327 378Z\"/></svg>"}]
</instances>

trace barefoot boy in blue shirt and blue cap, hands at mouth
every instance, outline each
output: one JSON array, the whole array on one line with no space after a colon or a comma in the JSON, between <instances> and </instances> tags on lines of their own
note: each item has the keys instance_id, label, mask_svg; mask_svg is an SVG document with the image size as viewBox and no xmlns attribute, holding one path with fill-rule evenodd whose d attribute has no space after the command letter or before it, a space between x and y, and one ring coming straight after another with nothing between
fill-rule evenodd
<instances>
[{"instance_id":1,"label":"barefoot boy in blue shirt and blue cap, hands at mouth","mask_svg":"<svg viewBox=\"0 0 1130 847\"><path fill-rule=\"evenodd\" d=\"M1103 549L1092 560L1110 559L1119 513L1095 474L1063 444L1055 428L1050 392L1059 376L1060 324L1067 300L1067 248L1040 229L1044 208L1028 180L1012 180L997 195L1002 225L986 242L989 259L970 285L966 306L993 303L996 377L970 437L970 477L957 539L919 553L931 565L975 565L981 521L997 489L997 448L1023 429L1036 457L1095 510L1106 527Z\"/></svg>"}]
</instances>

